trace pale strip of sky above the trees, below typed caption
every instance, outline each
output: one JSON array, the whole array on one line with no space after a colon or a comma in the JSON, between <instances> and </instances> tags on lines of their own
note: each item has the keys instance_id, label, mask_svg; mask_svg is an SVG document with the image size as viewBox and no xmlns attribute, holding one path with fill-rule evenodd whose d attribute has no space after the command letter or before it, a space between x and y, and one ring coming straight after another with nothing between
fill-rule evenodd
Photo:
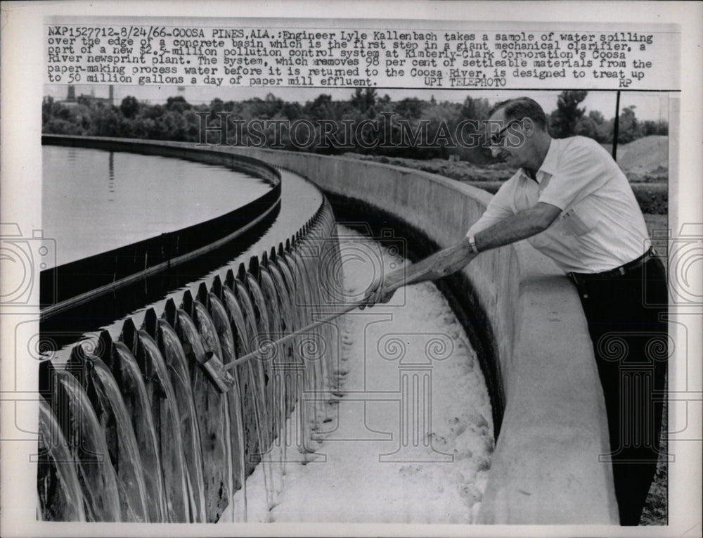
<instances>
[{"instance_id":1,"label":"pale strip of sky above the trees, below typed caption","mask_svg":"<svg viewBox=\"0 0 703 538\"><path fill-rule=\"evenodd\" d=\"M107 85L76 85L76 95L91 94L94 91L96 97L108 97ZM115 86L115 103L119 104L128 95L136 97L139 101L150 103L165 103L170 96L178 95L176 87L162 88L150 86ZM237 88L237 87L193 87L186 86L183 96L189 103L200 104L209 103L212 99L219 97L222 101L240 101L254 97L264 98L266 94L272 93L284 101L312 101L319 94L331 94L333 99L348 99L353 90L345 89L321 89L321 88ZM66 84L45 84L44 95L52 96L55 99L63 99L67 94ZM489 102L503 101L506 98L517 96L529 96L542 105L546 113L550 113L557 106L559 90L544 91L456 91L437 89L379 89L378 94L383 96L388 94L393 101L399 101L407 97L417 97L430 100L431 96L437 101L452 101L462 103L466 96L472 98L487 98ZM588 96L581 103L586 107L586 113L591 110L599 110L606 118L610 119L615 115L615 91L588 91ZM669 94L657 92L625 91L620 98L620 109L635 105L635 113L639 120L669 120Z\"/></svg>"}]
</instances>

